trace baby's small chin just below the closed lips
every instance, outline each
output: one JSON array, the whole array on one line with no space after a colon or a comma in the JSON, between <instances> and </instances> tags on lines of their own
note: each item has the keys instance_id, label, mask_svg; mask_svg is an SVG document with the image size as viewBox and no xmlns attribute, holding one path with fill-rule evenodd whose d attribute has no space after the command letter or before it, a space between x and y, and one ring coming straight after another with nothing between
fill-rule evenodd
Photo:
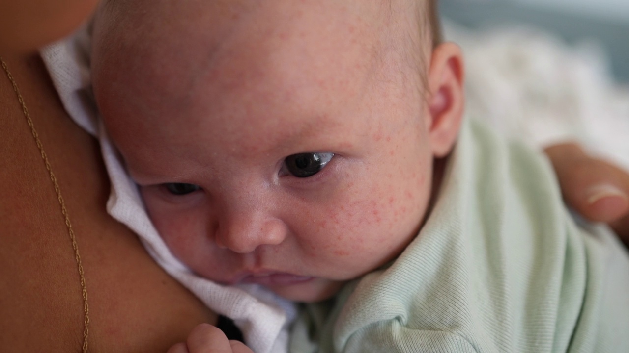
<instances>
[{"instance_id":1,"label":"baby's small chin just below the closed lips","mask_svg":"<svg viewBox=\"0 0 629 353\"><path fill-rule=\"evenodd\" d=\"M300 303L316 303L330 299L347 283L345 281L331 281L324 278L313 278L303 283L285 286L267 286L270 290L283 298Z\"/></svg>"}]
</instances>

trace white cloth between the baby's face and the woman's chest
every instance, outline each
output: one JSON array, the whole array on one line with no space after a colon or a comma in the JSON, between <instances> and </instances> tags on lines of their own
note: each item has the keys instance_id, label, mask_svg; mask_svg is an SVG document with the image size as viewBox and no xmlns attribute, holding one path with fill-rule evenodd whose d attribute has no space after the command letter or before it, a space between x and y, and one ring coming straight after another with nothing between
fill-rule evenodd
<instances>
[{"instance_id":1,"label":"white cloth between the baby's face and the woman's chest","mask_svg":"<svg viewBox=\"0 0 629 353\"><path fill-rule=\"evenodd\" d=\"M41 51L65 109L79 126L96 136L111 180L107 210L136 232L148 253L171 276L212 310L230 317L242 330L247 345L257 353L287 350L287 325L295 315L291 302L258 285L222 286L192 273L166 247L144 210L135 183L106 131L100 124L91 95L89 35L80 30L72 37Z\"/></svg>"}]
</instances>

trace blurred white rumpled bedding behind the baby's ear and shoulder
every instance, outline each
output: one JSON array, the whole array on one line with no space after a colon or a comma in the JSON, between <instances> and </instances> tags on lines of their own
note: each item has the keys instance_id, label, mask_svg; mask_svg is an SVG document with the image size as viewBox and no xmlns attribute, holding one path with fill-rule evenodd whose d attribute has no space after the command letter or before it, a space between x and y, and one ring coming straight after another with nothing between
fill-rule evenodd
<instances>
[{"instance_id":1,"label":"blurred white rumpled bedding behind the baby's ear and shoulder","mask_svg":"<svg viewBox=\"0 0 629 353\"><path fill-rule=\"evenodd\" d=\"M525 26L445 32L465 54L467 114L537 146L577 140L629 170L629 87L596 43L567 46Z\"/></svg>"}]
</instances>

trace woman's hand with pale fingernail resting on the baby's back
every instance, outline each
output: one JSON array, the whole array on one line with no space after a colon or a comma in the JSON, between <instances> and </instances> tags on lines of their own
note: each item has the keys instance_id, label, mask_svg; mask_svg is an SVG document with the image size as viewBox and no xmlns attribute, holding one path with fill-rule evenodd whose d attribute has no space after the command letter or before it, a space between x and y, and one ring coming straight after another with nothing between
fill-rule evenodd
<instances>
[{"instance_id":1,"label":"woman's hand with pale fingernail resting on the baby's back","mask_svg":"<svg viewBox=\"0 0 629 353\"><path fill-rule=\"evenodd\" d=\"M545 149L559 178L565 202L583 217L606 222L629 246L629 174L587 155L578 144Z\"/></svg>"}]
</instances>

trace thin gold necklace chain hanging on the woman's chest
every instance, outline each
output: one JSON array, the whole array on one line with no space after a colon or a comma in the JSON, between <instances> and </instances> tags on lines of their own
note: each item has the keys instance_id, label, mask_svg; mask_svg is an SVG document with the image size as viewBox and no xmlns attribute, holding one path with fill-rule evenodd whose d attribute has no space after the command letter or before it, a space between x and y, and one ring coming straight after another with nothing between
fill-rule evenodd
<instances>
[{"instance_id":1,"label":"thin gold necklace chain hanging on the woman's chest","mask_svg":"<svg viewBox=\"0 0 629 353\"><path fill-rule=\"evenodd\" d=\"M70 236L70 241L72 242L72 249L74 249L74 259L77 263L77 268L79 269L79 278L81 279L81 291L83 295L83 311L85 313L84 320L84 329L83 329L83 353L87 352L87 334L89 333L89 307L87 307L87 286L85 283L85 275L83 273L83 265L81 263L81 255L79 255L79 246L77 245L76 237L74 236L74 231L72 230L72 224L70 223L70 217L68 216L68 211L65 209L64 198L61 196L61 190L59 189L59 185L57 184L57 178L55 177L55 173L52 172L52 167L50 166L50 161L48 161L48 156L43 149L42 141L40 141L39 134L35 130L35 125L31 120L30 114L28 114L28 109L26 108L26 104L22 95L19 93L18 84L16 84L13 79L13 75L9 72L9 68L6 66L3 58L0 57L0 63L2 63L2 68L4 72L6 72L6 76L11 81L11 85L13 85L13 90L15 94L18 96L19 104L22 107L22 112L26 117L26 122L28 126L31 128L31 134L33 134L33 138L35 139L35 143L37 143L37 148L40 150L40 155L42 155L42 160L46 165L46 170L48 170L48 174L50 175L50 180L52 181L53 187L55 187L55 193L57 193L57 200L59 205L61 206L61 214L65 219L65 227L68 229L68 235Z\"/></svg>"}]
</instances>

